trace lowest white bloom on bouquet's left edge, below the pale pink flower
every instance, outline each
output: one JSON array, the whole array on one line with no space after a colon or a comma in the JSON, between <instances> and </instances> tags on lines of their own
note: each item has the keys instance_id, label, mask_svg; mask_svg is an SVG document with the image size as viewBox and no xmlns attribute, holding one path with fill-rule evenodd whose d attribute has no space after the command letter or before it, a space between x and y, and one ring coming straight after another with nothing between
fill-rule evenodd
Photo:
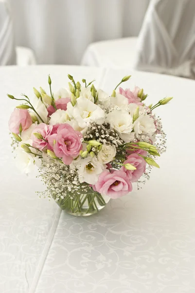
<instances>
[{"instance_id":1,"label":"lowest white bloom on bouquet's left edge, below the pale pink flower","mask_svg":"<svg viewBox=\"0 0 195 293\"><path fill-rule=\"evenodd\" d=\"M22 149L18 148L15 151L16 154L16 165L22 173L30 173L34 170L35 165L41 167L41 160L38 156L31 153L27 153Z\"/></svg>"}]
</instances>

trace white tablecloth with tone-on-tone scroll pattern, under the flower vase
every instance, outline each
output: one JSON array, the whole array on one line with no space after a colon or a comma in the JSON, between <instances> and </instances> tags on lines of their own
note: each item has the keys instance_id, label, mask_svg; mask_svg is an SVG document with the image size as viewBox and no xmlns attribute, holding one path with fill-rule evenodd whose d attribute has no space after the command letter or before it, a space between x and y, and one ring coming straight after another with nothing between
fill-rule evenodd
<instances>
[{"instance_id":1,"label":"white tablecloth with tone-on-tone scroll pattern, under the flower vase","mask_svg":"<svg viewBox=\"0 0 195 293\"><path fill-rule=\"evenodd\" d=\"M154 103L168 150L142 190L111 200L91 217L74 217L53 201L34 174L15 167L7 122L16 105L6 93L53 90L75 79L97 80L112 91L138 84ZM0 67L0 293L194 293L195 292L195 81L126 70L76 66ZM32 94L33 96L33 94Z\"/></svg>"}]
</instances>

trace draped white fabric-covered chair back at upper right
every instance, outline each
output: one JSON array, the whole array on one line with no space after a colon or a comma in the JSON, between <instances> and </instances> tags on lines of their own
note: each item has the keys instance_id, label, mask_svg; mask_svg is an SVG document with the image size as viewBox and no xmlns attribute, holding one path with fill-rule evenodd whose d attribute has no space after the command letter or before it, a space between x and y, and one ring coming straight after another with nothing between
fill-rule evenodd
<instances>
[{"instance_id":1,"label":"draped white fabric-covered chair back at upper right","mask_svg":"<svg viewBox=\"0 0 195 293\"><path fill-rule=\"evenodd\" d=\"M195 0L152 0L134 68L195 78Z\"/></svg>"}]
</instances>

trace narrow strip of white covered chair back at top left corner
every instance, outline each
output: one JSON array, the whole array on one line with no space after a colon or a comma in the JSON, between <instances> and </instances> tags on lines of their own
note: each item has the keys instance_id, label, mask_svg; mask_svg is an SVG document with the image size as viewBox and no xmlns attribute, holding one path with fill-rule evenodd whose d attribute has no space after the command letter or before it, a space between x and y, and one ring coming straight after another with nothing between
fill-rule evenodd
<instances>
[{"instance_id":1,"label":"narrow strip of white covered chair back at top left corner","mask_svg":"<svg viewBox=\"0 0 195 293\"><path fill-rule=\"evenodd\" d=\"M0 65L14 64L16 51L9 4L6 0L0 0Z\"/></svg>"}]
</instances>

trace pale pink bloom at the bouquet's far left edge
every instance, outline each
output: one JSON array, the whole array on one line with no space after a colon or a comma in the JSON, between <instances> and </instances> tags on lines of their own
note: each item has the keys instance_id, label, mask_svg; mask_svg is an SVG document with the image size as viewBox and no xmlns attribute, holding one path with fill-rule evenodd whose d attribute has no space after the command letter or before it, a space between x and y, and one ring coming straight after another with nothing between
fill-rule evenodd
<instances>
[{"instance_id":1,"label":"pale pink bloom at the bouquet's far left edge","mask_svg":"<svg viewBox=\"0 0 195 293\"><path fill-rule=\"evenodd\" d=\"M8 122L10 132L18 134L20 124L22 130L25 130L33 124L33 121L27 109L15 108Z\"/></svg>"}]
</instances>

